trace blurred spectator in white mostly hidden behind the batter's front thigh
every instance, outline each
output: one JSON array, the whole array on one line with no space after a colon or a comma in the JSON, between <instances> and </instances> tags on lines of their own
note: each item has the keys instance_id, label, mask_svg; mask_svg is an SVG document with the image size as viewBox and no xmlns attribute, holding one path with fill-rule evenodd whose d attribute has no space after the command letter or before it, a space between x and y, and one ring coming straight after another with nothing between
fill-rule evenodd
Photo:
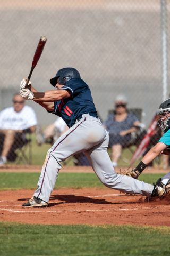
<instances>
[{"instance_id":1,"label":"blurred spectator in white mostly hidden behind the batter's front thigh","mask_svg":"<svg viewBox=\"0 0 170 256\"><path fill-rule=\"evenodd\" d=\"M48 125L44 132L41 130L41 127L37 125L37 144L39 146L43 145L44 143L54 144L54 142L68 129L69 127L66 125L62 117L58 117L53 124Z\"/></svg>"}]
</instances>

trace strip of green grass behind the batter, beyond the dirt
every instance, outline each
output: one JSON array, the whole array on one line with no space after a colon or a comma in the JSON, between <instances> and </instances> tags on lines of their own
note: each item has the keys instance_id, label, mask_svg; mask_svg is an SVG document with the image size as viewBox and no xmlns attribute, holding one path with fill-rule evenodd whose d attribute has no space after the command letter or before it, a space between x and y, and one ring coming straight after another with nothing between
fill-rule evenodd
<instances>
[{"instance_id":1,"label":"strip of green grass behind the batter, beyond the dirt","mask_svg":"<svg viewBox=\"0 0 170 256\"><path fill-rule=\"evenodd\" d=\"M139 180L147 183L156 182L165 174L141 174ZM36 189L40 173L26 172L0 172L0 190L7 189ZM83 187L99 187L106 188L98 179L95 173L59 173L55 189L57 188L83 188Z\"/></svg>"}]
</instances>

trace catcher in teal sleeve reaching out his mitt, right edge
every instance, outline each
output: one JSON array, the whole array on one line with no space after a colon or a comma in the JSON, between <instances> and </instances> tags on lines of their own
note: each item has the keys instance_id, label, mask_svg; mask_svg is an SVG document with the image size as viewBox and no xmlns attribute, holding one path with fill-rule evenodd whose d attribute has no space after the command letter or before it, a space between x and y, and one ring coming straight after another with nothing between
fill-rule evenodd
<instances>
[{"instance_id":1,"label":"catcher in teal sleeve reaching out his mitt, right edge","mask_svg":"<svg viewBox=\"0 0 170 256\"><path fill-rule=\"evenodd\" d=\"M163 130L163 137L158 143L149 150L149 152L142 158L141 162L131 172L126 172L126 175L134 179L138 179L143 170L160 154L170 155L170 99L165 100L160 104L157 115L161 115L158 119L158 124ZM170 195L170 172L163 178L157 180L156 185L166 187L166 193Z\"/></svg>"}]
</instances>

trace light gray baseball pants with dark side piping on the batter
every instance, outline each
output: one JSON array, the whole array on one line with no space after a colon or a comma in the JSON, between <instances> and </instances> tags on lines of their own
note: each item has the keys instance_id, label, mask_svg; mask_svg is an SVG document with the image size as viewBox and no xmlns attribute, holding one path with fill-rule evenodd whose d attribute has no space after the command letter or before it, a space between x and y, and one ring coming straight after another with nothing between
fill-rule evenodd
<instances>
[{"instance_id":1,"label":"light gray baseball pants with dark side piping on the batter","mask_svg":"<svg viewBox=\"0 0 170 256\"><path fill-rule=\"evenodd\" d=\"M48 150L34 196L48 202L62 167L61 162L82 151L88 157L97 177L106 187L129 194L151 196L154 186L115 173L107 153L108 142L108 132L100 120L84 114L83 118L62 134Z\"/></svg>"}]
</instances>

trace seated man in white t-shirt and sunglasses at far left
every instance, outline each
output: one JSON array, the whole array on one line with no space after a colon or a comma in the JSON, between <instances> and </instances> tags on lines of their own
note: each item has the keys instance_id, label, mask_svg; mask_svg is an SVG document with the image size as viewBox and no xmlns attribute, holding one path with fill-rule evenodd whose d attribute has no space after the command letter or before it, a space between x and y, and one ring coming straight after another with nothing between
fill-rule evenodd
<instances>
[{"instance_id":1,"label":"seated man in white t-shirt and sunglasses at far left","mask_svg":"<svg viewBox=\"0 0 170 256\"><path fill-rule=\"evenodd\" d=\"M15 142L21 142L23 146L26 140L25 134L34 132L36 125L35 111L25 106L25 100L20 94L15 94L13 107L5 108L0 113L0 165L4 165L7 159L15 160L17 155L14 150L20 147Z\"/></svg>"}]
</instances>

